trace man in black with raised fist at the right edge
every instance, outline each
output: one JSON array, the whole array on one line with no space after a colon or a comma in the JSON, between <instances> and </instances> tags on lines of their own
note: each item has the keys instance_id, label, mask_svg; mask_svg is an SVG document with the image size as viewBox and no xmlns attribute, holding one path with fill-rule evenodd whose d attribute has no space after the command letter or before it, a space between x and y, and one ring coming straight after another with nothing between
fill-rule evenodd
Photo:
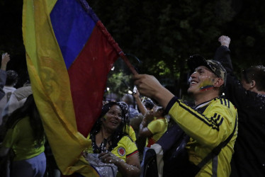
<instances>
[{"instance_id":1,"label":"man in black with raised fist at the right edge","mask_svg":"<svg viewBox=\"0 0 265 177\"><path fill-rule=\"evenodd\" d=\"M230 38L222 35L215 59L227 71L225 97L237 108L238 135L231 176L265 176L265 67L249 67L239 81L230 59Z\"/></svg>"}]
</instances>

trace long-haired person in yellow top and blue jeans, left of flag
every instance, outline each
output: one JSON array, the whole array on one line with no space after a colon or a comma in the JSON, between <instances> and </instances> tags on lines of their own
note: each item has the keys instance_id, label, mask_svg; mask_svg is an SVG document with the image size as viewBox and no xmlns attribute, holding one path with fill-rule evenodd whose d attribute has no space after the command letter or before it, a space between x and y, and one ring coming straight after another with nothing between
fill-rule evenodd
<instances>
[{"instance_id":1,"label":"long-haired person in yellow top and blue jeans, left of flag","mask_svg":"<svg viewBox=\"0 0 265 177\"><path fill-rule=\"evenodd\" d=\"M33 95L28 96L21 108L15 110L6 122L6 136L0 156L13 150L11 176L43 176L46 169L44 154L45 132Z\"/></svg>"}]
</instances>

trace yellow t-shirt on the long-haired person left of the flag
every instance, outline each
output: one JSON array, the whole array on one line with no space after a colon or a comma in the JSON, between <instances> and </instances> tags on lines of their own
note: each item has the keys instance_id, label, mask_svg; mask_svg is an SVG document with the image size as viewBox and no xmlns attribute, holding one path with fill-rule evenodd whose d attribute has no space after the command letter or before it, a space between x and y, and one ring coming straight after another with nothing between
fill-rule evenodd
<instances>
[{"instance_id":1,"label":"yellow t-shirt on the long-haired person left of the flag","mask_svg":"<svg viewBox=\"0 0 265 177\"><path fill-rule=\"evenodd\" d=\"M44 152L44 142L38 147L33 137L29 117L19 120L16 125L6 132L3 147L12 148L16 156L13 161L33 158Z\"/></svg>"}]
</instances>

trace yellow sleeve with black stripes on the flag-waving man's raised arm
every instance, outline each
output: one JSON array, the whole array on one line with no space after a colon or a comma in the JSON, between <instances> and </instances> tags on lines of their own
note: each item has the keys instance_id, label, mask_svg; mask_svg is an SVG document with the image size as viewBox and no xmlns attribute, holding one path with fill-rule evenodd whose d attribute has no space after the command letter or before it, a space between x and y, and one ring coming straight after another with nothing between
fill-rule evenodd
<instances>
[{"instance_id":1,"label":"yellow sleeve with black stripes on the flag-waving man's raised arm","mask_svg":"<svg viewBox=\"0 0 265 177\"><path fill-rule=\"evenodd\" d=\"M218 146L229 137L235 127L237 110L226 99L215 99L203 114L176 97L172 98L169 104L169 115L187 135L205 146Z\"/></svg>"}]
</instances>

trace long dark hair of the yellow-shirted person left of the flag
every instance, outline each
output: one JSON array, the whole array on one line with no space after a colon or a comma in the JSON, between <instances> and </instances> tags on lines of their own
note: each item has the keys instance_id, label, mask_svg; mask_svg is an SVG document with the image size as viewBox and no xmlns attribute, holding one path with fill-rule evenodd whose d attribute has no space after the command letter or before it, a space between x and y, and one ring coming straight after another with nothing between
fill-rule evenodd
<instances>
[{"instance_id":1,"label":"long dark hair of the yellow-shirted person left of the flag","mask_svg":"<svg viewBox=\"0 0 265 177\"><path fill-rule=\"evenodd\" d=\"M33 95L30 94L26 99L26 102L21 108L16 109L6 121L6 128L12 128L16 123L28 116L30 118L30 127L33 129L33 137L35 138L38 146L43 143L44 140L44 129L43 122L40 119L40 113L35 104Z\"/></svg>"}]
</instances>

